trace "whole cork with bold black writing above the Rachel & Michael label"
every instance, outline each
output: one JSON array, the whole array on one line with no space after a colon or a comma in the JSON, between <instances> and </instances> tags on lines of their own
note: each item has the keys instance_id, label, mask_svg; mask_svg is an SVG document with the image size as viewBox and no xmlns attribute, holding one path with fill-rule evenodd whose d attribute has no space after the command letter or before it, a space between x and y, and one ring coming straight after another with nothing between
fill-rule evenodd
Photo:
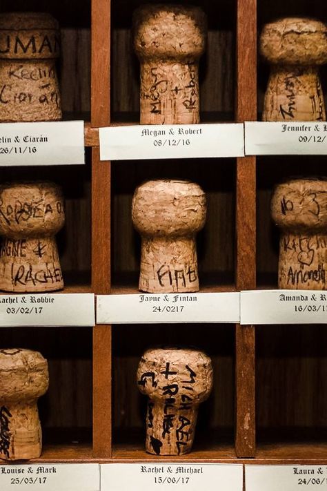
<instances>
[{"instance_id":1,"label":"whole cork with bold black writing above the Rachel & Michael label","mask_svg":"<svg viewBox=\"0 0 327 491\"><path fill-rule=\"evenodd\" d=\"M212 389L210 358L197 349L148 349L139 363L137 386L149 398L146 452L157 455L190 452L199 404Z\"/></svg>"}]
</instances>

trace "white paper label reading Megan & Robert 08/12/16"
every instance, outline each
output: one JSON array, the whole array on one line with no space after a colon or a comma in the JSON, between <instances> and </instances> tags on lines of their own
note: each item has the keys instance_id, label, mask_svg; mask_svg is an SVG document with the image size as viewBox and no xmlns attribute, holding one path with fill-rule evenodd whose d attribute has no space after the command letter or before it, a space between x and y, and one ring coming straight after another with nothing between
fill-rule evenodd
<instances>
[{"instance_id":1,"label":"white paper label reading Megan & Robert 08/12/16","mask_svg":"<svg viewBox=\"0 0 327 491\"><path fill-rule=\"evenodd\" d=\"M99 128L101 160L243 157L243 124L153 124Z\"/></svg>"}]
</instances>

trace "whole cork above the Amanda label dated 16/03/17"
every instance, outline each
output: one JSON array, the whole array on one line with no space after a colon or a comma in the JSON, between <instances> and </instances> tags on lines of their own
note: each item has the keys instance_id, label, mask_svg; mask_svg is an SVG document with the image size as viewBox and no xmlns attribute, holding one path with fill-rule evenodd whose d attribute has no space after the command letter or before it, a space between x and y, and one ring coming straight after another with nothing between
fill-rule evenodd
<instances>
[{"instance_id":1,"label":"whole cork above the Amanda label dated 16/03/17","mask_svg":"<svg viewBox=\"0 0 327 491\"><path fill-rule=\"evenodd\" d=\"M326 289L327 181L298 179L279 184L271 213L281 228L281 289Z\"/></svg>"}]
</instances>

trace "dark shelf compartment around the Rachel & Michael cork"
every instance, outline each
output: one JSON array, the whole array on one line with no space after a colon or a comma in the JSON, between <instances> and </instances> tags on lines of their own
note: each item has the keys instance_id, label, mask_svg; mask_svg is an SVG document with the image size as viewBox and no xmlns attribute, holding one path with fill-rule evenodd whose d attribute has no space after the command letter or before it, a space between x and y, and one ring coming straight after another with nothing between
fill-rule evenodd
<instances>
[{"instance_id":1,"label":"dark shelf compartment around the Rachel & Michael cork","mask_svg":"<svg viewBox=\"0 0 327 491\"><path fill-rule=\"evenodd\" d=\"M136 372L143 352L156 345L196 346L212 358L214 385L208 401L199 406L194 449L197 456L221 456L225 451L228 456L235 454L232 450L235 418L233 325L114 325L112 332L115 458L123 455L132 458L133 454L138 455L135 458L146 456L146 396L137 389ZM192 456L195 456L193 451L190 458Z\"/></svg>"}]
</instances>

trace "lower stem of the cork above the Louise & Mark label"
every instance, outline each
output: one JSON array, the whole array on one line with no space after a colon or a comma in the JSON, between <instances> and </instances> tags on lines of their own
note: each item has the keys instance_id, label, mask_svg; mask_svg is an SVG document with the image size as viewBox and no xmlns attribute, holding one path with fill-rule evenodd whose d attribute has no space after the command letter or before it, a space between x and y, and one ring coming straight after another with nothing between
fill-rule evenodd
<instances>
[{"instance_id":1,"label":"lower stem of the cork above the Louise & Mark label","mask_svg":"<svg viewBox=\"0 0 327 491\"><path fill-rule=\"evenodd\" d=\"M0 402L0 458L36 459L41 455L42 434L37 400Z\"/></svg>"}]
</instances>

